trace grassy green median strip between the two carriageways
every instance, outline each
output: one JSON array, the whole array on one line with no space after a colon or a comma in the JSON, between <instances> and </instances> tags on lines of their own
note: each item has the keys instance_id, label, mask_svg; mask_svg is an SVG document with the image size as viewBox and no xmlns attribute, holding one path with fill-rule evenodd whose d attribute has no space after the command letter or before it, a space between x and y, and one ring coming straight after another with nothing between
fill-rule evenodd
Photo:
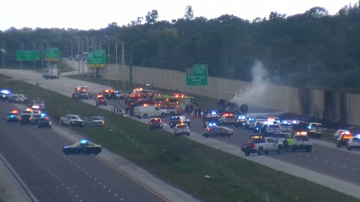
<instances>
[{"instance_id":1,"label":"grassy green median strip between the two carriageways","mask_svg":"<svg viewBox=\"0 0 360 202\"><path fill-rule=\"evenodd\" d=\"M71 100L69 97L21 81L4 81L4 77L0 77L0 88L10 88L30 98L44 98L48 113L52 115L72 113L81 116L96 114L106 116L112 124L131 136L134 142L141 144L141 148L146 148L146 152L132 146L116 130L90 126L82 129L74 128L74 130L203 201L261 200L233 179L219 174L204 161L192 156L189 152L191 149L197 154L206 155L222 168L240 176L263 192L269 193L270 197L278 201L358 201L322 185L215 150L187 138L174 138L164 130L149 130L147 124L118 115L111 116L108 111L98 107ZM206 175L211 178L204 178Z\"/></svg>"}]
</instances>

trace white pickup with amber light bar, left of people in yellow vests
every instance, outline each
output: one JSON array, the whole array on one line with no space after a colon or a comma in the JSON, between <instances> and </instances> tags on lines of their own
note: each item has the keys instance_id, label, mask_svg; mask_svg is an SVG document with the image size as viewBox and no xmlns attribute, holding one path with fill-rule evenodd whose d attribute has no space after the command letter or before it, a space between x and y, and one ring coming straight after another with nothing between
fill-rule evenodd
<instances>
[{"instance_id":1,"label":"white pickup with amber light bar, left of people in yellow vests","mask_svg":"<svg viewBox=\"0 0 360 202\"><path fill-rule=\"evenodd\" d=\"M257 153L258 155L269 154L269 152L273 151L280 154L283 152L283 142L261 135L251 135L248 143L243 144L241 151L245 153L245 156L249 156L251 153Z\"/></svg>"}]
</instances>

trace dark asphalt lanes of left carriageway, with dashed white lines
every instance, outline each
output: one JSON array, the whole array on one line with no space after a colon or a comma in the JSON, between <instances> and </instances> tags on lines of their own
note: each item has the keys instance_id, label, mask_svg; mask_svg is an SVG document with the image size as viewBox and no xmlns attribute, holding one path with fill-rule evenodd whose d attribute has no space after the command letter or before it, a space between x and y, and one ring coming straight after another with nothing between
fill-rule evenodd
<instances>
[{"instance_id":1,"label":"dark asphalt lanes of left carriageway, with dashed white lines","mask_svg":"<svg viewBox=\"0 0 360 202\"><path fill-rule=\"evenodd\" d=\"M0 106L0 152L39 201L165 201L93 155L64 155L72 143L53 130L6 123L14 106Z\"/></svg>"}]
</instances>

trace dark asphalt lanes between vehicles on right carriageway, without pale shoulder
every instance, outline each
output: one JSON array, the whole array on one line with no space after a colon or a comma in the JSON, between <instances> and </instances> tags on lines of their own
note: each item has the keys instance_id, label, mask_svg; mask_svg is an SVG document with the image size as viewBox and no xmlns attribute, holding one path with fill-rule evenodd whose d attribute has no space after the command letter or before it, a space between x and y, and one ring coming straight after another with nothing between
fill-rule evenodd
<instances>
[{"instance_id":1,"label":"dark asphalt lanes between vehicles on right carriageway, without pale shoulder","mask_svg":"<svg viewBox=\"0 0 360 202\"><path fill-rule=\"evenodd\" d=\"M117 100L115 102L113 100L108 100L108 106L112 106L116 102L120 102L123 109L125 108L123 100ZM249 109L248 116L259 115L258 113L260 111L258 109L255 109L253 111L251 110L252 109ZM125 114L125 110L122 111ZM256 113L254 113L254 111ZM261 112L261 116L276 115L276 113L271 110L266 111L265 109L265 111ZM190 131L197 134L202 134L204 124L203 120L198 118L191 118L188 116L186 117L189 118L191 122ZM170 116L161 119L163 123L167 124L169 123ZM216 139L229 144L233 144L234 146L241 147L243 143L247 143L249 136L253 134L252 130L245 130L242 127L226 127L234 129L235 134L230 138L216 137ZM169 126L166 126L164 128L169 128ZM360 151L348 152L345 147L343 147L342 149L336 148L335 144L333 144L333 148L315 144L313 146L312 152L297 151L282 153L281 155L278 155L276 153L270 153L270 155L267 156L360 185L360 175L357 175L357 173L360 171L359 155Z\"/></svg>"}]
</instances>

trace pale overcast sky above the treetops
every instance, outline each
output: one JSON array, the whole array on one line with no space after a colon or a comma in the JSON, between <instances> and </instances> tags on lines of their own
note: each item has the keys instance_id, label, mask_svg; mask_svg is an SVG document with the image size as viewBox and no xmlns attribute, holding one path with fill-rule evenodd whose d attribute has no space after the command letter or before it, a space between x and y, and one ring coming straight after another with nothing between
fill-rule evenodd
<instances>
[{"instance_id":1,"label":"pale overcast sky above the treetops","mask_svg":"<svg viewBox=\"0 0 360 202\"><path fill-rule=\"evenodd\" d=\"M0 30L10 27L99 29L116 22L126 25L148 11L158 10L158 20L181 18L187 5L194 16L207 19L233 14L243 19L269 17L271 11L294 15L321 6L336 14L357 0L0 0Z\"/></svg>"}]
</instances>

